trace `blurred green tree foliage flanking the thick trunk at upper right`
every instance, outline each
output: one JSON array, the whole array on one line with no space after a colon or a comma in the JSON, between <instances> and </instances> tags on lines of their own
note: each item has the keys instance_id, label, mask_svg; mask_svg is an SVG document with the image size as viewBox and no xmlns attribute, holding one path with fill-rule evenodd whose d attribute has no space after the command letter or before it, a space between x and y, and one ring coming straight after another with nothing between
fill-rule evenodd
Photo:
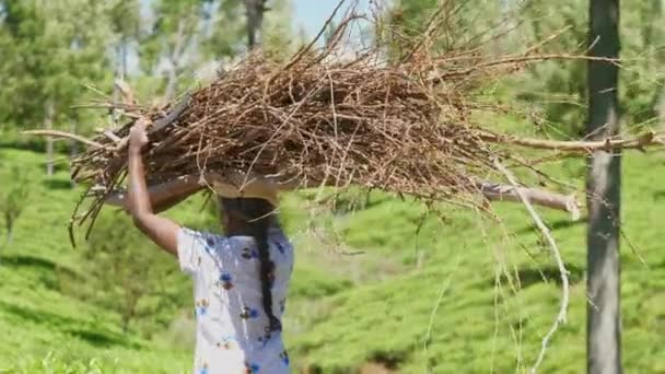
<instances>
[{"instance_id":1,"label":"blurred green tree foliage flanking the thick trunk at upper right","mask_svg":"<svg viewBox=\"0 0 665 374\"><path fill-rule=\"evenodd\" d=\"M523 42L534 45L561 33L542 50L584 54L587 40L587 1L532 0L523 9L526 27ZM629 124L642 124L655 117L662 95L665 62L665 26L661 1L621 3L621 59L619 93L622 113ZM553 60L537 63L514 85L517 95L540 107L551 122L553 136L581 137L586 116L586 62Z\"/></svg>"}]
</instances>

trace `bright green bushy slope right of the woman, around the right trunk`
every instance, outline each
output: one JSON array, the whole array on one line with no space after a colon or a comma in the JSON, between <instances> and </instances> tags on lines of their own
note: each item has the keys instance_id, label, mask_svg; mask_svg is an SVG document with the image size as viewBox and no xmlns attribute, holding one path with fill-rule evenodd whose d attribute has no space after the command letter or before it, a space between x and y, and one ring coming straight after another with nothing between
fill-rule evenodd
<instances>
[{"instance_id":1,"label":"bright green bushy slope right of the woman, around the right trunk","mask_svg":"<svg viewBox=\"0 0 665 374\"><path fill-rule=\"evenodd\" d=\"M663 163L632 154L626 159L625 233L649 268L625 242L625 364L627 370L655 373L665 361L656 349L643 348L663 341L656 331L665 308L654 307L652 297L664 301L654 288L665 281L665 262L657 242L650 238L656 235L650 222L663 214L662 188L656 187ZM564 171L551 172L557 176ZM325 308L317 308L317 316L300 326L306 332L290 335L292 357L304 358L324 373L350 372L368 361L395 365L404 373L528 369L557 313L559 276L523 208L500 203L494 208L500 222L455 209L446 210L445 222L428 219L429 227L420 232L423 267L325 297L320 301ZM419 212L417 206L390 200L339 219L347 223L345 238L362 238L363 247L399 258L412 253L418 226L413 218ZM558 212L541 213L553 229L572 281L568 323L555 335L541 371L581 372L585 367L585 226Z\"/></svg>"}]
</instances>

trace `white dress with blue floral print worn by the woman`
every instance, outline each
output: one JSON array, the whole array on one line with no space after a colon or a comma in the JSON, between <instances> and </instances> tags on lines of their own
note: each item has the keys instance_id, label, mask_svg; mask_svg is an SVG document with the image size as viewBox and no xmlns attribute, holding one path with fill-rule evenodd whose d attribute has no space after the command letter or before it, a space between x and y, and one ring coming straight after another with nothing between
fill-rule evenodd
<instances>
[{"instance_id":1,"label":"white dress with blue floral print worn by the woman","mask_svg":"<svg viewBox=\"0 0 665 374\"><path fill-rule=\"evenodd\" d=\"M279 229L270 230L268 244L275 262L272 311L281 320L293 271L293 247ZM177 247L180 269L194 279L194 373L289 373L281 332L270 331L264 311L254 238L180 229Z\"/></svg>"}]
</instances>

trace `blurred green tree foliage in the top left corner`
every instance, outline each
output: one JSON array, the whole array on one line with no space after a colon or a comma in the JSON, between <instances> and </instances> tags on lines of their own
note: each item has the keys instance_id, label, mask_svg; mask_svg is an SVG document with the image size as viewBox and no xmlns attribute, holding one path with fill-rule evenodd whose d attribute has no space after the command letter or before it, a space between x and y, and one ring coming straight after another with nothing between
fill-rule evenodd
<instances>
[{"instance_id":1,"label":"blurred green tree foliage in the top left corner","mask_svg":"<svg viewBox=\"0 0 665 374\"><path fill-rule=\"evenodd\" d=\"M0 121L34 128L46 116L47 103L54 105L56 124L75 119L70 106L84 97L82 83L100 82L106 74L108 5L92 0L4 2Z\"/></svg>"}]
</instances>

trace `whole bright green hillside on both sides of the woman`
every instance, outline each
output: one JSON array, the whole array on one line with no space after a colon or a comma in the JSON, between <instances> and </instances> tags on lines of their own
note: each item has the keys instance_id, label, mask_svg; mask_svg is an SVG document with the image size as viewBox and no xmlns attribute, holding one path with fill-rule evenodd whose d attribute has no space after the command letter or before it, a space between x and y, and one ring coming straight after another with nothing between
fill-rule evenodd
<instances>
[{"instance_id":1,"label":"whole bright green hillside on both sides of the woman","mask_svg":"<svg viewBox=\"0 0 665 374\"><path fill-rule=\"evenodd\" d=\"M69 186L66 167L45 182L43 160L31 150L0 149L2 186L13 163L36 177L14 241L0 253L0 373L189 372L192 347L182 338L191 331L188 280L164 276L173 289L167 307L122 331L117 312L100 302L105 290L94 285L84 252L69 246L67 223L78 191ZM552 173L580 166L556 166ZM665 161L629 154L623 171L623 229L648 264L623 241L623 362L628 373L658 373L665 371L660 354L665 253L658 227ZM363 209L347 204L308 214L312 200L306 192L289 195L282 208L298 244L284 322L298 366L348 373L378 362L404 373L492 367L502 373L532 364L561 290L522 207L497 204L500 222L446 208L440 221L423 218L418 204L381 194ZM196 227L210 225L201 203L191 199L172 214ZM555 336L541 372L583 372L585 226L562 213L542 214L571 270L572 288L568 323ZM147 245L147 250L153 249ZM340 254L349 250L364 254ZM167 260L154 253L155 260Z\"/></svg>"}]
</instances>

